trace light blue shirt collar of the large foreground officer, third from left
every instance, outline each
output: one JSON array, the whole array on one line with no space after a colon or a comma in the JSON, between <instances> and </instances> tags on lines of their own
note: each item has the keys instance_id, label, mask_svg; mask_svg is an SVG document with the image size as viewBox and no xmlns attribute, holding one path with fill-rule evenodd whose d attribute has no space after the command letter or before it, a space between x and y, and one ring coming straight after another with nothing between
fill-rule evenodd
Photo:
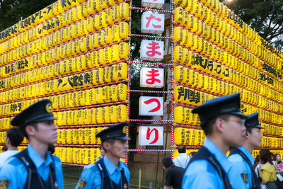
<instances>
[{"instance_id":1,"label":"light blue shirt collar of the large foreground officer, third from left","mask_svg":"<svg viewBox=\"0 0 283 189\"><path fill-rule=\"evenodd\" d=\"M219 162L219 164L222 166L224 171L226 173L229 172L231 165L229 163L229 160L227 159L226 155L222 153L222 151L217 147L211 140L205 139L204 141L204 147L207 147L207 149L210 151L210 153L214 154L216 160Z\"/></svg>"}]
</instances>

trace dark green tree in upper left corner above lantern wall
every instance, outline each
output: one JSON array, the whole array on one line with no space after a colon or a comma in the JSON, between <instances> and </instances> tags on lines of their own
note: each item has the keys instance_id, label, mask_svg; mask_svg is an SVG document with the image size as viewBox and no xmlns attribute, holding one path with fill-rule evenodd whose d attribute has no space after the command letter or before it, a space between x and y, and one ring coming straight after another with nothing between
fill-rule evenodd
<instances>
[{"instance_id":1,"label":"dark green tree in upper left corner above lantern wall","mask_svg":"<svg viewBox=\"0 0 283 189\"><path fill-rule=\"evenodd\" d=\"M0 0L0 31L40 11L55 0Z\"/></svg>"}]
</instances>

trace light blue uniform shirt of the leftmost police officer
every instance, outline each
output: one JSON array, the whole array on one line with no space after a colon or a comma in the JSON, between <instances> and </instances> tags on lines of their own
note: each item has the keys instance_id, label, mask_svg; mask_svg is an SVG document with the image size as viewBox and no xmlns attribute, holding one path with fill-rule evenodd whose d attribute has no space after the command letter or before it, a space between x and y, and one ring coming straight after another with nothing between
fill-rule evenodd
<instances>
[{"instance_id":1,"label":"light blue uniform shirt of the leftmost police officer","mask_svg":"<svg viewBox=\"0 0 283 189\"><path fill-rule=\"evenodd\" d=\"M47 151L46 161L44 161L40 154L38 154L37 151L35 151L35 149L28 144L28 154L30 159L33 161L33 164L35 164L35 167L37 168L37 173L44 181L47 181L50 172L50 164L52 163L52 158L49 152ZM62 163L57 156L53 156L53 159L56 180L59 189L61 189L64 188ZM22 162L15 156L11 156L11 158L6 161L6 164L1 168L0 171L0 178L8 179L8 181L10 181L8 188L11 189L24 188L27 177L28 171Z\"/></svg>"}]
</instances>

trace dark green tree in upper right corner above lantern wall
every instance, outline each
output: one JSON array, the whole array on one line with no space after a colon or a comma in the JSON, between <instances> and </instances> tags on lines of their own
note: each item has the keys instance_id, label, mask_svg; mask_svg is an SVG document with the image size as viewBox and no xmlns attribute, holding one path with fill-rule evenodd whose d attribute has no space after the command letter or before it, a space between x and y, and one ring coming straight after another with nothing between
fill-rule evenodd
<instances>
[{"instance_id":1,"label":"dark green tree in upper right corner above lantern wall","mask_svg":"<svg viewBox=\"0 0 283 189\"><path fill-rule=\"evenodd\" d=\"M221 1L262 38L271 42L279 50L283 50L282 0Z\"/></svg>"}]
</instances>

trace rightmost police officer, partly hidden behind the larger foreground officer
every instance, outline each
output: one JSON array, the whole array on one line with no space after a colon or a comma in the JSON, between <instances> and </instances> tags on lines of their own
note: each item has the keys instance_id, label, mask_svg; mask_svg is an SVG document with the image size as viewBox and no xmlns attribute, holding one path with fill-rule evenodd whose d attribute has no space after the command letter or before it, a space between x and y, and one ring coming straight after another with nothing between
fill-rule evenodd
<instances>
[{"instance_id":1,"label":"rightmost police officer, partly hidden behind the larger foreground officer","mask_svg":"<svg viewBox=\"0 0 283 189\"><path fill-rule=\"evenodd\" d=\"M258 113L248 115L245 122L246 135L243 147L231 149L229 161L232 167L229 171L229 178L233 188L257 188L260 189L260 181L253 170L252 156L253 149L259 148L261 144L262 134L260 122L258 121ZM233 178L233 179L232 179Z\"/></svg>"}]
</instances>

